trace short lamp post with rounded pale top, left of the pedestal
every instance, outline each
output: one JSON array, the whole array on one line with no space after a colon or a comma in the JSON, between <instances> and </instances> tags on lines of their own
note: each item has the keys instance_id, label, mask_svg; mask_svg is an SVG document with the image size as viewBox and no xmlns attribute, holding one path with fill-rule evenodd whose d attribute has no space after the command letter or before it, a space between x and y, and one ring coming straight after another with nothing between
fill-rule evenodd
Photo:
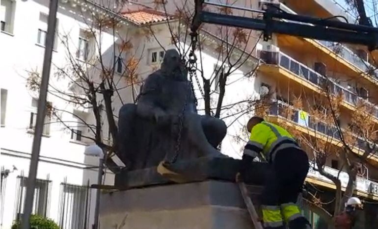
<instances>
[{"instance_id":1,"label":"short lamp post with rounded pale top, left of the pedestal","mask_svg":"<svg viewBox=\"0 0 378 229\"><path fill-rule=\"evenodd\" d=\"M87 156L99 157L99 171L97 175L97 184L102 184L103 168L104 168L104 156L105 153L98 145L91 145L85 148L84 154ZM96 205L93 229L99 229L99 215L100 215L100 189L96 190Z\"/></svg>"}]
</instances>

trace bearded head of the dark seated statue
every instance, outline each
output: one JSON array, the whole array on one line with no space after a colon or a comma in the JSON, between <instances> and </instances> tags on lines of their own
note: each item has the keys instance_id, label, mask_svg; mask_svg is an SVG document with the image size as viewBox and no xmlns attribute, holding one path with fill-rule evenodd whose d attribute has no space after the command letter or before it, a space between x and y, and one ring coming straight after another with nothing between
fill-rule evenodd
<instances>
[{"instance_id":1,"label":"bearded head of the dark seated statue","mask_svg":"<svg viewBox=\"0 0 378 229\"><path fill-rule=\"evenodd\" d=\"M185 64L181 61L178 51L174 49L165 52L160 70L165 77L175 80L187 79Z\"/></svg>"}]
</instances>

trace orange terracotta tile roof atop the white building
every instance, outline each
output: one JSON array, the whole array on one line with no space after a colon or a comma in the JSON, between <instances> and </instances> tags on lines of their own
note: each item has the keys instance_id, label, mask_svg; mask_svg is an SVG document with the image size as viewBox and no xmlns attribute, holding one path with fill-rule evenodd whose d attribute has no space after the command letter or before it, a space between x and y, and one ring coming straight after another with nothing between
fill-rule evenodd
<instances>
[{"instance_id":1,"label":"orange terracotta tile roof atop the white building","mask_svg":"<svg viewBox=\"0 0 378 229\"><path fill-rule=\"evenodd\" d=\"M165 13L152 9L140 9L136 11L123 12L122 16L134 22L136 25L157 23L172 19L171 16L168 15L167 17Z\"/></svg>"}]
</instances>

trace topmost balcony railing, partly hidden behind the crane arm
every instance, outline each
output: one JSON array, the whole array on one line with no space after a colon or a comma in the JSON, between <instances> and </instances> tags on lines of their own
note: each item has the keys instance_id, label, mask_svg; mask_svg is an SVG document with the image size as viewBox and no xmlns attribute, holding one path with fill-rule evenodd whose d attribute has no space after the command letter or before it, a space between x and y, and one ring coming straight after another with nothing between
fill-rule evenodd
<instances>
[{"instance_id":1,"label":"topmost balcony railing, partly hidden behind the crane arm","mask_svg":"<svg viewBox=\"0 0 378 229\"><path fill-rule=\"evenodd\" d=\"M280 3L280 8L290 14L297 14L295 11L290 9L285 4ZM295 21L289 21L288 22L303 24L303 25L312 25L310 23L299 23ZM350 62L355 67L359 68L361 71L368 73L370 76L373 76L374 78L378 79L378 69L374 67L369 62L363 60L361 57L356 55L353 51L348 49L346 46L337 43L337 42L331 42L331 41L321 41L321 40L314 40L324 47L326 47L328 50L335 52L336 54L340 55L342 58L346 59L348 62Z\"/></svg>"}]
</instances>

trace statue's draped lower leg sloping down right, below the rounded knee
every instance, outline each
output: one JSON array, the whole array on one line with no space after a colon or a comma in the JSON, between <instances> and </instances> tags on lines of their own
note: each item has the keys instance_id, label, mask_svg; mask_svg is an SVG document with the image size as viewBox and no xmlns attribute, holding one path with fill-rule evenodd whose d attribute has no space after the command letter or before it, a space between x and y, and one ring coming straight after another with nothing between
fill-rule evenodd
<instances>
[{"instance_id":1,"label":"statue's draped lower leg sloping down right, below the rounded knee","mask_svg":"<svg viewBox=\"0 0 378 229\"><path fill-rule=\"evenodd\" d=\"M201 152L201 156L221 156L207 140L202 127L202 117L198 114L189 114L185 116L185 128L188 130L190 142L195 145Z\"/></svg>"}]
</instances>

